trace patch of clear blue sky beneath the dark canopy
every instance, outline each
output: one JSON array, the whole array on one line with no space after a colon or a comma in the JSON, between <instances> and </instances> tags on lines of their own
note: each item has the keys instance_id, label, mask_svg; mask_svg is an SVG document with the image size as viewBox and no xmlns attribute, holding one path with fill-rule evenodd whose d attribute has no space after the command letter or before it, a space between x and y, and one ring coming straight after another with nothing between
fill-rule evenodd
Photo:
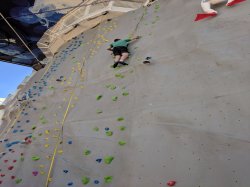
<instances>
[{"instance_id":1,"label":"patch of clear blue sky beneath the dark canopy","mask_svg":"<svg viewBox=\"0 0 250 187\"><path fill-rule=\"evenodd\" d=\"M0 61L0 98L6 98L15 92L17 86L33 69Z\"/></svg>"}]
</instances>

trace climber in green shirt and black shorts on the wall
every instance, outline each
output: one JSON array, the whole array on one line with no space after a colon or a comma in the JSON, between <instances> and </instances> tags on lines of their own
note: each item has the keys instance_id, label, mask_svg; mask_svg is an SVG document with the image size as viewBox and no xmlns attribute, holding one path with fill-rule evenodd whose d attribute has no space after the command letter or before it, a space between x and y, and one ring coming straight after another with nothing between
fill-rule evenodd
<instances>
[{"instance_id":1,"label":"climber in green shirt and black shorts on the wall","mask_svg":"<svg viewBox=\"0 0 250 187\"><path fill-rule=\"evenodd\" d=\"M110 47L107 49L109 51L113 51L113 54L115 56L115 63L113 65L113 68L116 68L118 64L122 65L128 65L124 61L129 57L129 51L128 51L128 45L131 42L134 42L138 40L140 37L137 36L132 39L115 39L114 42L110 45Z\"/></svg>"}]
</instances>

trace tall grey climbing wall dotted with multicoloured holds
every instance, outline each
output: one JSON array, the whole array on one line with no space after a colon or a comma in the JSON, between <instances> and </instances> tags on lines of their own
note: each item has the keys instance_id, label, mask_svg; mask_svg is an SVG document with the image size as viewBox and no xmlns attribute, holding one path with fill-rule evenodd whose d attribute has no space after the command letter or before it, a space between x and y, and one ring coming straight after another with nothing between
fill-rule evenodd
<instances>
[{"instance_id":1,"label":"tall grey climbing wall dotted with multicoloured holds","mask_svg":"<svg viewBox=\"0 0 250 187\"><path fill-rule=\"evenodd\" d=\"M217 9L161 0L70 41L2 127L1 186L250 186L250 3Z\"/></svg>"}]
</instances>

